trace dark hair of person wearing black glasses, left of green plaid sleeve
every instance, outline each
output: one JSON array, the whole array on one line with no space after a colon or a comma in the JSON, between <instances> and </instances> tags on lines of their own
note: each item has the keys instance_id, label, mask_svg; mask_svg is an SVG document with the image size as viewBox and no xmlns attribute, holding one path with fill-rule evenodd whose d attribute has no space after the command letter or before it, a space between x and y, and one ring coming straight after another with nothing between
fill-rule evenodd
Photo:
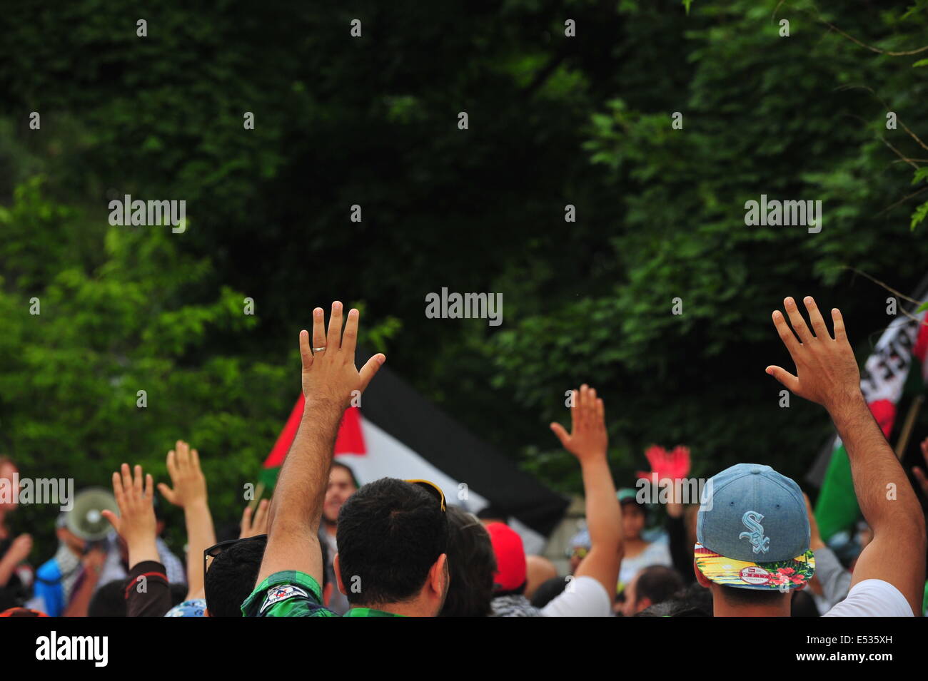
<instances>
[{"instance_id":1,"label":"dark hair of person wearing black glasses, left of green plaid sleeve","mask_svg":"<svg viewBox=\"0 0 928 681\"><path fill-rule=\"evenodd\" d=\"M241 604L254 590L266 546L266 536L255 536L229 545L213 559L203 582L210 617L241 617Z\"/></svg>"}]
</instances>

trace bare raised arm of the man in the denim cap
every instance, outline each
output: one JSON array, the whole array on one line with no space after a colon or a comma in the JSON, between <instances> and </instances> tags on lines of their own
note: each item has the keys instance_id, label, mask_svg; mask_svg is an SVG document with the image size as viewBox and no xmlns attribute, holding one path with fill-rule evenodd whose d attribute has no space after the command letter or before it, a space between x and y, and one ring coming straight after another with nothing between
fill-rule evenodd
<instances>
[{"instance_id":1,"label":"bare raised arm of the man in the denim cap","mask_svg":"<svg viewBox=\"0 0 928 681\"><path fill-rule=\"evenodd\" d=\"M896 586L912 612L919 613L925 574L922 507L860 392L860 372L841 312L831 310L831 338L815 300L808 296L804 302L811 329L791 297L783 300L783 305L793 331L780 310L773 313L773 323L793 358L796 375L777 366L767 367L767 373L799 397L828 410L847 449L857 503L873 529L873 541L857 559L851 586L865 579L882 579Z\"/></svg>"}]
</instances>

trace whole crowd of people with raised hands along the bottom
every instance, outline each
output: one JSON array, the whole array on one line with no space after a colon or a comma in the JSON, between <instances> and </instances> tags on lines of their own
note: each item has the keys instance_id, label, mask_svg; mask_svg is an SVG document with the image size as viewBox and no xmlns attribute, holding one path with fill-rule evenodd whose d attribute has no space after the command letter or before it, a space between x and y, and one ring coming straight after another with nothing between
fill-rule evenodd
<instances>
[{"instance_id":1,"label":"whole crowd of people with raised hands along the bottom","mask_svg":"<svg viewBox=\"0 0 928 681\"><path fill-rule=\"evenodd\" d=\"M651 448L651 484L669 490L664 528L634 489L616 490L603 401L573 394L570 430L551 423L582 474L586 526L571 542L569 573L526 556L506 517L471 514L426 480L359 485L332 460L344 410L385 361L354 363L358 311L332 304L300 334L305 408L270 501L243 512L237 538L216 541L196 449L167 455L171 484L123 463L112 473L110 534L88 540L68 511L58 550L38 569L32 537L11 530L0 505L0 611L4 616L912 616L925 610L925 518L860 392L844 321L833 334L815 301L808 322L793 298L773 323L796 367L767 373L828 410L847 450L866 523L856 556L838 556L818 534L809 499L763 463L739 463L707 481L700 504L678 483L690 451ZM787 323L787 319L789 323ZM792 327L792 328L791 328ZM928 440L922 445L928 461ZM0 459L0 481L17 469ZM916 473L922 495L928 481ZM7 482L7 484L9 484ZM892 493L887 490L892 490ZM183 509L187 550L161 540L163 504ZM864 533L862 533L864 534Z\"/></svg>"}]
</instances>

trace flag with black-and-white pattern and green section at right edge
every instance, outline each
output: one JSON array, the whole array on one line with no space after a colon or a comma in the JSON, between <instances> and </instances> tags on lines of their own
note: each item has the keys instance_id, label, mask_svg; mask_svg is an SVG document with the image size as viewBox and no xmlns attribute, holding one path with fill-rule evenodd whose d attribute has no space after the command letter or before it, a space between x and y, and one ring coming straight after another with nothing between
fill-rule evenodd
<instances>
[{"instance_id":1,"label":"flag with black-and-white pattern and green section at right edge","mask_svg":"<svg viewBox=\"0 0 928 681\"><path fill-rule=\"evenodd\" d=\"M923 281L918 294L913 296L917 300L928 294L928 285L925 284ZM915 309L916 306L910 305L909 308ZM896 424L896 410L907 381L914 381L918 389L923 390L928 379L925 312L911 314L915 319L899 314L890 323L860 372L860 390L887 440ZM834 435L829 451L830 456L826 454L828 458L822 457L818 462L820 470L827 460L827 468L815 509L818 529L825 541L842 530L852 528L860 517L851 479L851 463L840 436Z\"/></svg>"}]
</instances>

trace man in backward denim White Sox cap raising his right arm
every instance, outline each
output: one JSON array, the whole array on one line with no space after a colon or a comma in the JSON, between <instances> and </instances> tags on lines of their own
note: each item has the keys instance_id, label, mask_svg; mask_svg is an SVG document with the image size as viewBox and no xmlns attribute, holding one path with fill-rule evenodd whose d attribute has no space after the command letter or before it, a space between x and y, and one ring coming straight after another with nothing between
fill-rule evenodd
<instances>
[{"instance_id":1,"label":"man in backward denim White Sox cap raising his right arm","mask_svg":"<svg viewBox=\"0 0 928 681\"><path fill-rule=\"evenodd\" d=\"M825 616L911 617L921 612L924 586L921 504L861 393L841 312L831 310L832 338L815 300L807 296L805 303L811 328L792 297L783 300L792 330L780 310L773 313L796 375L777 366L767 373L828 410L847 449L860 511L873 529L847 598ZM709 480L699 516L693 570L712 592L715 616L789 617L792 592L815 571L799 486L769 466L740 463Z\"/></svg>"}]
</instances>

